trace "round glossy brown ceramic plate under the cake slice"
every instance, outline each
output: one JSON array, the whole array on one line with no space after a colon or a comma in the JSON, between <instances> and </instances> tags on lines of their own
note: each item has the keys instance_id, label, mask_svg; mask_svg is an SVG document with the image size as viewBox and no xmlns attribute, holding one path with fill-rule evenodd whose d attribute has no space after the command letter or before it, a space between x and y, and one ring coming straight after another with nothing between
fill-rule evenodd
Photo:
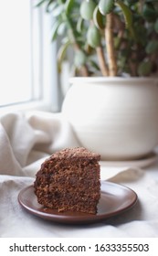
<instances>
[{"instance_id":1,"label":"round glossy brown ceramic plate under the cake slice","mask_svg":"<svg viewBox=\"0 0 158 256\"><path fill-rule=\"evenodd\" d=\"M22 189L18 195L18 202L29 213L66 224L100 222L132 208L136 201L137 195L132 189L106 181L101 181L101 197L96 215L72 211L58 213L55 209L43 208L37 203L33 186Z\"/></svg>"}]
</instances>

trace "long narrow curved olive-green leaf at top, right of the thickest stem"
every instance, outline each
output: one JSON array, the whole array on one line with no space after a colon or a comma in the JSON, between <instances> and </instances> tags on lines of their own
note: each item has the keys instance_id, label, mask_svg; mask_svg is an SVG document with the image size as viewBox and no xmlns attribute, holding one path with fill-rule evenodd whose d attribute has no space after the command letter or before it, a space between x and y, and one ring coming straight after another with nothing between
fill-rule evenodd
<instances>
[{"instance_id":1,"label":"long narrow curved olive-green leaf at top, right of the thickest stem","mask_svg":"<svg viewBox=\"0 0 158 256\"><path fill-rule=\"evenodd\" d=\"M131 9L125 5L121 0L116 1L116 5L119 5L121 8L121 11L123 13L126 27L132 28L132 11Z\"/></svg>"}]
</instances>

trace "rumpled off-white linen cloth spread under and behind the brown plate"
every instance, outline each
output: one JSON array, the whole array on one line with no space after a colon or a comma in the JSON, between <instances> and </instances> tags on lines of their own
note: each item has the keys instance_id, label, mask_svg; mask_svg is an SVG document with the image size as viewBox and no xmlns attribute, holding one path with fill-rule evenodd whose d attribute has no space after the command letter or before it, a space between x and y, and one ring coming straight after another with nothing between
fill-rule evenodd
<instances>
[{"instance_id":1,"label":"rumpled off-white linen cloth spread under and behind the brown plate","mask_svg":"<svg viewBox=\"0 0 158 256\"><path fill-rule=\"evenodd\" d=\"M138 203L90 225L64 225L37 218L17 202L32 185L41 163L65 147L79 146L61 113L15 112L0 118L0 237L158 237L158 179L148 169L101 166L101 179L131 187ZM158 163L155 164L155 169Z\"/></svg>"}]
</instances>

